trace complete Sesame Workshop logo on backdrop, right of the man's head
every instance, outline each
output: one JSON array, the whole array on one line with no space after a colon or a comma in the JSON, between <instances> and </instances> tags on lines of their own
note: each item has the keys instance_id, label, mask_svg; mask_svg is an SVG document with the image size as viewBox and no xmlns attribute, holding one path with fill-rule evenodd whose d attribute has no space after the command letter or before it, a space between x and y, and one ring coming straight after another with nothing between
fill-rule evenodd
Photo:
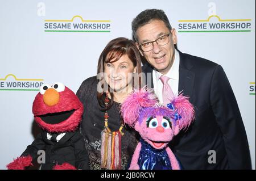
<instances>
[{"instance_id":1,"label":"complete Sesame Workshop logo on backdrop, right of the man's head","mask_svg":"<svg viewBox=\"0 0 256 181\"><path fill-rule=\"evenodd\" d=\"M251 32L251 19L221 19L211 15L203 20L179 20L178 32Z\"/></svg>"}]
</instances>

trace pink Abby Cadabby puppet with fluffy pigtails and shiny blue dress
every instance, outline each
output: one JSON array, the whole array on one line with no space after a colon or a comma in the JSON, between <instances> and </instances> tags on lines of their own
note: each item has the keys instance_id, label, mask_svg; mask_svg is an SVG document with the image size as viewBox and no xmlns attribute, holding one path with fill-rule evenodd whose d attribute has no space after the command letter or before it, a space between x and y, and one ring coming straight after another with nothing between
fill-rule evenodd
<instances>
[{"instance_id":1,"label":"pink Abby Cadabby puppet with fluffy pigtails and shiny blue dress","mask_svg":"<svg viewBox=\"0 0 256 181\"><path fill-rule=\"evenodd\" d=\"M125 123L141 135L130 170L180 170L167 145L181 129L188 128L195 117L188 96L179 94L166 107L159 104L152 91L143 87L127 96L121 112Z\"/></svg>"}]
</instances>

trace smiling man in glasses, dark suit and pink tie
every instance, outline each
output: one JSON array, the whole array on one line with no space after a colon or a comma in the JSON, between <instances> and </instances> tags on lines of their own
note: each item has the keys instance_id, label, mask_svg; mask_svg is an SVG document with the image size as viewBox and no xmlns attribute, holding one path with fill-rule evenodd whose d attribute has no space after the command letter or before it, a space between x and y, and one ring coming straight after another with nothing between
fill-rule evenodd
<instances>
[{"instance_id":1,"label":"smiling man in glasses, dark suit and pink tie","mask_svg":"<svg viewBox=\"0 0 256 181\"><path fill-rule=\"evenodd\" d=\"M132 29L148 63L142 68L147 85L160 102L164 102L161 77L167 77L172 92L182 91L195 106L192 126L170 145L184 169L251 169L245 127L222 67L175 49L176 31L162 10L142 11Z\"/></svg>"}]
</instances>

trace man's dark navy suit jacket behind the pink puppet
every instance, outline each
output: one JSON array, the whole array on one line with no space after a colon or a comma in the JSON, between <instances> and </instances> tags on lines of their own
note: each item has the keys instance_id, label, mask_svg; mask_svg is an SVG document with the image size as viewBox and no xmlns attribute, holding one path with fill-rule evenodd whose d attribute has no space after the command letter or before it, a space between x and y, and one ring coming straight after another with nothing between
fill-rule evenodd
<instances>
[{"instance_id":1,"label":"man's dark navy suit jacket behind the pink puppet","mask_svg":"<svg viewBox=\"0 0 256 181\"><path fill-rule=\"evenodd\" d=\"M209 60L179 54L179 92L190 97L196 119L172 140L170 148L184 169L251 169L245 127L224 70ZM142 69L152 73L148 64ZM216 151L216 163L208 162L208 158L214 161L209 150Z\"/></svg>"}]
</instances>

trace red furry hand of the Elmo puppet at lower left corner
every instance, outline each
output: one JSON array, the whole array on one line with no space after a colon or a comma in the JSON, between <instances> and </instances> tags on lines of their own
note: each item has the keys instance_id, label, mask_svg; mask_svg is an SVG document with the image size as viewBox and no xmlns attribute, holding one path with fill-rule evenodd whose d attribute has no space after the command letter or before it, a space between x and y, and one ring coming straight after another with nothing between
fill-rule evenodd
<instances>
[{"instance_id":1,"label":"red furry hand of the Elmo puppet at lower left corner","mask_svg":"<svg viewBox=\"0 0 256 181\"><path fill-rule=\"evenodd\" d=\"M28 166L33 166L32 157L30 155L27 155L26 157L18 157L6 167L8 170L24 170Z\"/></svg>"}]
</instances>

